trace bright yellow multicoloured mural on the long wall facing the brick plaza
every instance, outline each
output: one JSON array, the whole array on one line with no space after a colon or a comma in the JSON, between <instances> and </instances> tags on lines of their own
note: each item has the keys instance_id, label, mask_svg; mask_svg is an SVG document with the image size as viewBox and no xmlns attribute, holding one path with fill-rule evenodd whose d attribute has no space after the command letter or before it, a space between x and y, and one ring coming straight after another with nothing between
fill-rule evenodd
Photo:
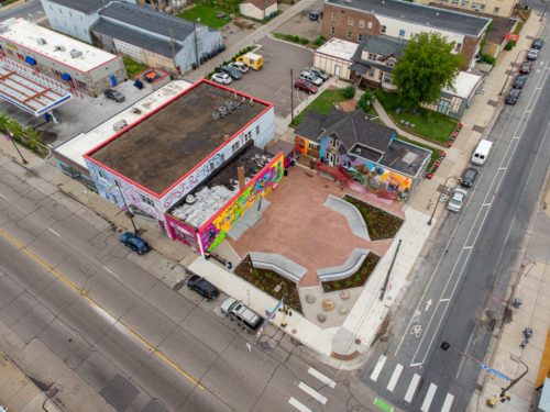
<instances>
[{"instance_id":1,"label":"bright yellow multicoloured mural on the long wall facing the brick plaza","mask_svg":"<svg viewBox=\"0 0 550 412\"><path fill-rule=\"evenodd\" d=\"M272 189L278 188L284 172L284 156L280 154L272 160L256 178L246 185L229 205L218 215L213 216L200 229L200 241L202 248L212 252L226 237L227 231L241 218L261 197L267 194Z\"/></svg>"}]
</instances>

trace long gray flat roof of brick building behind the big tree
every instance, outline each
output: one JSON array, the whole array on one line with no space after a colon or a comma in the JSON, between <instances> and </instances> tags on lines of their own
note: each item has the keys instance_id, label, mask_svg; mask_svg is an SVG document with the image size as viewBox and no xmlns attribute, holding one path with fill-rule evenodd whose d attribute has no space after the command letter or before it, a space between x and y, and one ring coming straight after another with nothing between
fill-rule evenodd
<instances>
[{"instance_id":1,"label":"long gray flat roof of brick building behind the big tree","mask_svg":"<svg viewBox=\"0 0 550 412\"><path fill-rule=\"evenodd\" d=\"M399 0L324 0L346 9L361 10L428 27L479 37L491 19Z\"/></svg>"}]
</instances>

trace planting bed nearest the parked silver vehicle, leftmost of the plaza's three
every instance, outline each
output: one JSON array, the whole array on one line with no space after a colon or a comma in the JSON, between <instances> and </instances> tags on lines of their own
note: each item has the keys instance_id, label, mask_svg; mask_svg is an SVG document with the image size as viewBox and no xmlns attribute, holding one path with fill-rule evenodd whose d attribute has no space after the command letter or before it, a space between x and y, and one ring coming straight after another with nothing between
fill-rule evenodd
<instances>
[{"instance_id":1,"label":"planting bed nearest the parked silver vehicle, leftmost of the plaza's three","mask_svg":"<svg viewBox=\"0 0 550 412\"><path fill-rule=\"evenodd\" d=\"M252 265L250 255L242 259L234 274L277 300L283 299L286 291L288 297L285 298L285 304L299 313L304 313L296 283L273 270L255 268ZM283 287L278 292L275 292L275 287L280 283L283 283Z\"/></svg>"}]
</instances>

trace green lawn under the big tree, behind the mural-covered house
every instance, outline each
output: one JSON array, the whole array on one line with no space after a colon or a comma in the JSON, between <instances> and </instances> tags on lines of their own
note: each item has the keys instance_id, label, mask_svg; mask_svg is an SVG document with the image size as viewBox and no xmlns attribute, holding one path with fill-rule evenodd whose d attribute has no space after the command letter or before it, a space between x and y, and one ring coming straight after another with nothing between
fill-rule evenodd
<instances>
[{"instance_id":1,"label":"green lawn under the big tree, behind the mural-covered house","mask_svg":"<svg viewBox=\"0 0 550 412\"><path fill-rule=\"evenodd\" d=\"M457 120L424 108L418 108L420 115L416 115L407 110L402 110L402 112L397 114L395 110L400 107L398 98L399 96L397 93L381 92L378 101L399 127L426 137L429 141L441 144L447 144L447 142L449 142L449 136L459 123ZM400 123L402 120L415 124L415 129L405 126Z\"/></svg>"}]
</instances>

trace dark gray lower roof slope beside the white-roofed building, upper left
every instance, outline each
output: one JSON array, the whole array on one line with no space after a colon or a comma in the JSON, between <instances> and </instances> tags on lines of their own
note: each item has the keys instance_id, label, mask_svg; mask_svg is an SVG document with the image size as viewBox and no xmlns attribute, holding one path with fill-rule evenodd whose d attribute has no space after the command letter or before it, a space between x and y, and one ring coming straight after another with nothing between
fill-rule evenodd
<instances>
[{"instance_id":1,"label":"dark gray lower roof slope beside the white-roofed building, upper left","mask_svg":"<svg viewBox=\"0 0 550 412\"><path fill-rule=\"evenodd\" d=\"M184 47L180 43L174 42L174 45L172 45L168 38L153 37L150 34L107 21L103 18L100 18L90 30L94 33L108 35L169 58L173 58L174 54Z\"/></svg>"}]
</instances>

